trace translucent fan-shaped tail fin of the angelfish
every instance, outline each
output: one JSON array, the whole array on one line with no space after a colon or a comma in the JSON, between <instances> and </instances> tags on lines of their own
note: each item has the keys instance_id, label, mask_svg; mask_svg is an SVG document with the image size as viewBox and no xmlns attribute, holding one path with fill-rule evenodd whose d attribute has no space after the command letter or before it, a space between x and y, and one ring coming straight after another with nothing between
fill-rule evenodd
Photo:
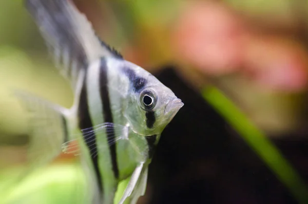
<instances>
[{"instance_id":1,"label":"translucent fan-shaped tail fin of the angelfish","mask_svg":"<svg viewBox=\"0 0 308 204\"><path fill-rule=\"evenodd\" d=\"M61 153L61 144L67 139L67 121L64 113L68 111L23 91L15 91L15 96L21 101L29 116L29 141L26 145L23 171L8 184L12 187Z\"/></svg>"}]
</instances>

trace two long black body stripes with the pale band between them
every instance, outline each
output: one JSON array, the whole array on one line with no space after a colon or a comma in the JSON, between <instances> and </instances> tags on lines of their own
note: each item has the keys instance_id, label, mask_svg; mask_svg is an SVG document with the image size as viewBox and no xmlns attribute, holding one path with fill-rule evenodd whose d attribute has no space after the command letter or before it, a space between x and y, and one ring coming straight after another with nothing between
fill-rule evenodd
<instances>
[{"instance_id":1,"label":"two long black body stripes with the pale band between them","mask_svg":"<svg viewBox=\"0 0 308 204\"><path fill-rule=\"evenodd\" d=\"M87 69L78 108L79 128L92 128L102 123L112 124L114 122L108 87L108 67L105 59L102 58L93 62ZM113 199L112 193L117 188L119 167L117 144L115 142L109 144L109 141L115 141L114 127L108 126L104 130L105 132L94 131L95 135L91 135L90 140L84 134L84 141L91 155L91 164L98 181L100 198L103 199L104 203L109 203L110 197ZM108 184L104 184L104 181L107 181ZM104 185L107 185L107 189L104 188Z\"/></svg>"}]
</instances>

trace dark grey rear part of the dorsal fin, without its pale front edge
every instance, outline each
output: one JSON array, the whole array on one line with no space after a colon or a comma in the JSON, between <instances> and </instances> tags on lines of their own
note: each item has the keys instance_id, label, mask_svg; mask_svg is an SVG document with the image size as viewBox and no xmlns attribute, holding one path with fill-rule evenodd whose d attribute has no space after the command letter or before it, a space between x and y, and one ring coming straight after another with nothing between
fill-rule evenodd
<instances>
[{"instance_id":1,"label":"dark grey rear part of the dorsal fin, without its pale front edge","mask_svg":"<svg viewBox=\"0 0 308 204\"><path fill-rule=\"evenodd\" d=\"M79 34L74 32L78 26L74 23L72 5L59 0L29 0L26 6L53 54L56 67L74 86L76 78L72 77L87 66L89 56Z\"/></svg>"}]
</instances>

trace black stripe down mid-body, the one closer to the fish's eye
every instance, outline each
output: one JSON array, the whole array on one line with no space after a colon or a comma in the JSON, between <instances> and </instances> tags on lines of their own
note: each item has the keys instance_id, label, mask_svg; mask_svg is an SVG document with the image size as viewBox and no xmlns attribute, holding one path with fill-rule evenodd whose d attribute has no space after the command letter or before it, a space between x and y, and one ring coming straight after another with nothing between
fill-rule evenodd
<instances>
[{"instance_id":1,"label":"black stripe down mid-body, the one closer to the fish's eye","mask_svg":"<svg viewBox=\"0 0 308 204\"><path fill-rule=\"evenodd\" d=\"M103 103L103 116L105 122L113 123L111 107L110 107L110 98L109 98L109 90L108 90L108 68L104 58L101 60L100 67L100 91L101 91L101 100ZM107 133L107 132L106 132ZM108 129L107 133L108 141L114 141L114 128ZM117 148L115 143L109 145L109 151L111 155L111 163L112 163L112 171L114 173L115 178L119 178L119 168L117 162Z\"/></svg>"}]
</instances>

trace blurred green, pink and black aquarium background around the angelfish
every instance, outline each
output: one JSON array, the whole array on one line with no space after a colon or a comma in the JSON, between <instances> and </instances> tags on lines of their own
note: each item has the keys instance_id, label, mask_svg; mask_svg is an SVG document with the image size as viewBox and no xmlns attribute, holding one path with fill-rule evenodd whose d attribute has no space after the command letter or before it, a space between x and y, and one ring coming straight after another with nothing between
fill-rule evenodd
<instances>
[{"instance_id":1,"label":"blurred green, pink and black aquarium background around the angelfish","mask_svg":"<svg viewBox=\"0 0 308 204\"><path fill-rule=\"evenodd\" d=\"M308 203L306 1L74 2L105 42L185 103L139 203ZM73 97L22 0L0 2L0 83L5 183L23 169L29 133L11 90L65 107ZM76 162L61 155L0 203L76 203Z\"/></svg>"}]
</instances>

